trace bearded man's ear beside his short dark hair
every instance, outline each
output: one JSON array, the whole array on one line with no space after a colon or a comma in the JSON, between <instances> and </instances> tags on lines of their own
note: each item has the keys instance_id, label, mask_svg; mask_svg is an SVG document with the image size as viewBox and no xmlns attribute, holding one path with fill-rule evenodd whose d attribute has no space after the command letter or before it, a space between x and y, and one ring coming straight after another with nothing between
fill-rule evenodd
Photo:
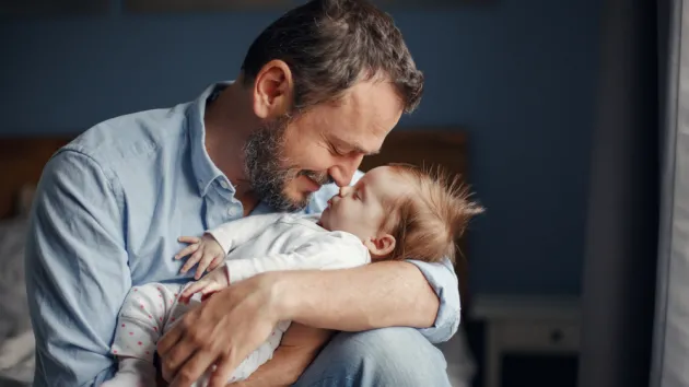
<instances>
[{"instance_id":1,"label":"bearded man's ear beside his short dark hair","mask_svg":"<svg viewBox=\"0 0 689 387\"><path fill-rule=\"evenodd\" d=\"M292 71L282 60L266 63L254 81L254 114L261 119L275 119L292 107Z\"/></svg>"}]
</instances>

